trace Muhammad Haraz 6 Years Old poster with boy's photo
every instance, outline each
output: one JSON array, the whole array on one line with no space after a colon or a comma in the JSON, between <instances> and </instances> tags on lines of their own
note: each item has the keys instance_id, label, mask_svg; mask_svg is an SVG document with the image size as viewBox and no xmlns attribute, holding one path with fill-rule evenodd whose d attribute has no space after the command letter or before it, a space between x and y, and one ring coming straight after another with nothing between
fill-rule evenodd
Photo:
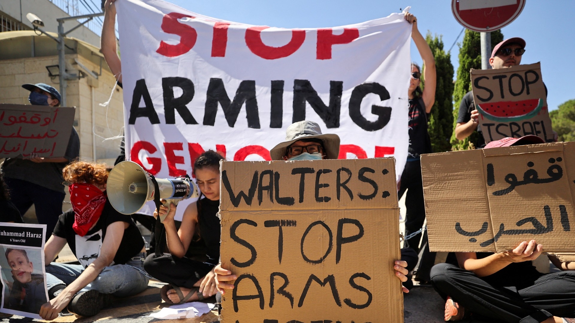
<instances>
[{"instance_id":1,"label":"Muhammad Haraz 6 Years Old poster with boy's photo","mask_svg":"<svg viewBox=\"0 0 575 323\"><path fill-rule=\"evenodd\" d=\"M41 319L40 307L48 302L45 234L45 224L0 225L0 312Z\"/></svg>"}]
</instances>

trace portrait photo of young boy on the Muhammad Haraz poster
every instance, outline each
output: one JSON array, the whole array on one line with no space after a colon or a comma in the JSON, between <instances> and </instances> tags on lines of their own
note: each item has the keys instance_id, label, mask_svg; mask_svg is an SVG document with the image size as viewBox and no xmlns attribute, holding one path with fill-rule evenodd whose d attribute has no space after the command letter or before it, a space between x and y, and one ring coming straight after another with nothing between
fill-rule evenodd
<instances>
[{"instance_id":1,"label":"portrait photo of young boy on the Muhammad Haraz poster","mask_svg":"<svg viewBox=\"0 0 575 323\"><path fill-rule=\"evenodd\" d=\"M3 248L0 248L3 249ZM34 253L34 258L40 255L40 251L29 249ZM11 279L6 271L4 306L5 309L16 310L27 313L40 313L40 307L47 302L44 276L34 274L34 264L28 257L25 249L6 248L5 256L11 272ZM35 255L38 253L39 255ZM2 262L3 263L3 262ZM41 262L38 263L41 266ZM4 267L4 266L2 266ZM6 294L6 289L9 292Z\"/></svg>"}]
</instances>

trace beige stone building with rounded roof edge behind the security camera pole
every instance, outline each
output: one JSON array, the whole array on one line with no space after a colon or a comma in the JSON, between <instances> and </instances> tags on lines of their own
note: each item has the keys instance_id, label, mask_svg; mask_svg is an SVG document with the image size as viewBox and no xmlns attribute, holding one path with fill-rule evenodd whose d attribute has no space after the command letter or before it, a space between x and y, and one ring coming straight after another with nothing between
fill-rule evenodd
<instances>
[{"instance_id":1,"label":"beige stone building with rounded roof edge behind the security camera pole","mask_svg":"<svg viewBox=\"0 0 575 323\"><path fill-rule=\"evenodd\" d=\"M123 134L122 89L116 87L112 94L116 79L99 48L73 37L66 39L66 45L66 70L81 75L67 81L67 105L76 107L74 126L80 136L80 158L111 166L118 155L120 139L103 141L102 137ZM29 91L21 86L24 83L42 82L59 89L58 77L50 76L46 68L57 63L56 42L48 36L38 36L33 30L0 33L0 103L29 104ZM90 76L82 66L98 78ZM99 106L110 95L109 106Z\"/></svg>"}]
</instances>

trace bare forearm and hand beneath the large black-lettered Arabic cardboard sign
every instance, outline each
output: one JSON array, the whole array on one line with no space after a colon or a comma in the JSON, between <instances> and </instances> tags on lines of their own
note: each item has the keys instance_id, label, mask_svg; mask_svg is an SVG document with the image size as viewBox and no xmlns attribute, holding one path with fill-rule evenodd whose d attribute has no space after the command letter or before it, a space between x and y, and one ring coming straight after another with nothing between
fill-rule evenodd
<instances>
[{"instance_id":1,"label":"bare forearm and hand beneath the large black-lettered Arabic cardboard sign","mask_svg":"<svg viewBox=\"0 0 575 323\"><path fill-rule=\"evenodd\" d=\"M456 252L455 256L457 256L459 267L473 272L478 277L485 277L500 271L511 263L535 260L542 251L543 246L531 240L528 243L523 241L513 250L494 253L482 259L477 259L475 252Z\"/></svg>"}]
</instances>

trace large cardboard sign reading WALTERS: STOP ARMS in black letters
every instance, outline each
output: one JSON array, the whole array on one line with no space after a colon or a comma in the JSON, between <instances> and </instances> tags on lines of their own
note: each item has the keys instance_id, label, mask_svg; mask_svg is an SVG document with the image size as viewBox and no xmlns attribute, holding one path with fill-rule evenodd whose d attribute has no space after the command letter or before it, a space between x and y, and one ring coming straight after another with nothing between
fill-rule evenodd
<instances>
[{"instance_id":1,"label":"large cardboard sign reading WALTERS: STOP ARMS in black letters","mask_svg":"<svg viewBox=\"0 0 575 323\"><path fill-rule=\"evenodd\" d=\"M394 160L223 161L223 323L403 322Z\"/></svg>"}]
</instances>

